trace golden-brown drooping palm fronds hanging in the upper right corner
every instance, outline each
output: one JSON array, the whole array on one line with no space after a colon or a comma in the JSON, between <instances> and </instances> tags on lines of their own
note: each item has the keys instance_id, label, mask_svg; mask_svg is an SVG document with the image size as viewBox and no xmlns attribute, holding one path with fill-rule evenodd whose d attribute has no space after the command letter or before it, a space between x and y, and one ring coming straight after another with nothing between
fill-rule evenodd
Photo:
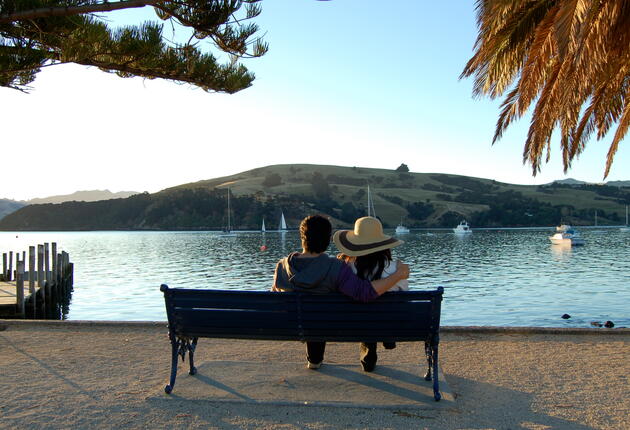
<instances>
[{"instance_id":1,"label":"golden-brown drooping palm fronds hanging in the upper right corner","mask_svg":"<svg viewBox=\"0 0 630 430\"><path fill-rule=\"evenodd\" d=\"M474 95L506 94L493 143L535 103L523 162L536 175L560 131L565 172L595 134L615 123L604 177L630 125L627 0L477 0L479 35L461 77Z\"/></svg>"}]
</instances>

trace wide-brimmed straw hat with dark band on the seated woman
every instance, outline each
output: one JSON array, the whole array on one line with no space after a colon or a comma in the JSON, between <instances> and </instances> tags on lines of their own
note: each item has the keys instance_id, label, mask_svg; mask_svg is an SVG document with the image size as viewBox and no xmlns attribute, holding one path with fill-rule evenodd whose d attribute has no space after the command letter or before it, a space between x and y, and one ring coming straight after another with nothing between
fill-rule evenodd
<instances>
[{"instance_id":1,"label":"wide-brimmed straw hat with dark band on the seated woman","mask_svg":"<svg viewBox=\"0 0 630 430\"><path fill-rule=\"evenodd\" d=\"M333 242L339 251L350 257L360 257L404 243L402 240L383 234L381 222L369 216L356 220L354 230L336 231Z\"/></svg>"}]
</instances>

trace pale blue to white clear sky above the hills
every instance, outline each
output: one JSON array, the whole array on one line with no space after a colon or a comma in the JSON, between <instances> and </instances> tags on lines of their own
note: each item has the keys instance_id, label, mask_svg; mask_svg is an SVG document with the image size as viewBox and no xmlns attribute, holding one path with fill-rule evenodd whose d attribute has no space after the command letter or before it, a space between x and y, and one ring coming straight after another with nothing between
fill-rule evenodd
<instances>
[{"instance_id":1,"label":"pale blue to white clear sky above the hills","mask_svg":"<svg viewBox=\"0 0 630 430\"><path fill-rule=\"evenodd\" d=\"M245 60L256 80L233 95L78 65L44 69L28 94L0 88L0 198L156 192L302 163L405 163L526 185L603 180L613 133L566 175L557 140L536 177L523 165L528 116L491 144L501 100L474 99L473 79L459 79L477 35L473 2L264 0L262 9L269 52ZM150 8L107 18L156 20ZM630 179L627 141L606 180Z\"/></svg>"}]
</instances>

